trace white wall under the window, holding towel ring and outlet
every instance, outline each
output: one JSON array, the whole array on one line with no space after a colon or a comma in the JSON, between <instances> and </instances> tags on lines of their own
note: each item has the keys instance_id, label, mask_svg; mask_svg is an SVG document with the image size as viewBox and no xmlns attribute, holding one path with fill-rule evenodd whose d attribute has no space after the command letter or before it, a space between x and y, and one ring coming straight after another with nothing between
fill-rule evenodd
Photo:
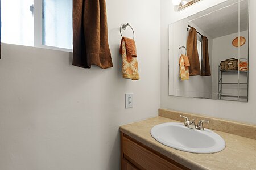
<instances>
[{"instance_id":1,"label":"white wall under the window, holding towel ring and outlet","mask_svg":"<svg viewBox=\"0 0 256 170\"><path fill-rule=\"evenodd\" d=\"M159 1L107 1L114 67L81 69L71 54L2 44L0 169L119 169L122 124L158 114ZM119 27L135 30L141 80L121 75ZM125 109L125 92L134 107Z\"/></svg>"}]
</instances>

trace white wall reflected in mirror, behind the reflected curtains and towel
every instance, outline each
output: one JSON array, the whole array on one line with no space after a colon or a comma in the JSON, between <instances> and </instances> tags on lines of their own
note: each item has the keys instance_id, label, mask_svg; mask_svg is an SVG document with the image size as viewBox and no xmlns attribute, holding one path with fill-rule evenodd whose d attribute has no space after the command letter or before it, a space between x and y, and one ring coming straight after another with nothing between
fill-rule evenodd
<instances>
[{"instance_id":1,"label":"white wall reflected in mirror, behind the reflected curtains and towel","mask_svg":"<svg viewBox=\"0 0 256 170\"><path fill-rule=\"evenodd\" d=\"M187 46L189 25L193 25L197 31L207 36L209 60L212 63L212 38L207 35L198 25L191 22L191 19L185 18L179 22L169 25L169 94L173 96L184 97L203 97L210 98L212 94L211 76L189 76L189 80L181 81L179 78L179 57L185 53L184 49L179 50L179 46ZM201 41L201 36L197 35L197 41ZM201 46L197 45L197 48ZM199 61L201 64L201 50L199 51Z\"/></svg>"}]
</instances>

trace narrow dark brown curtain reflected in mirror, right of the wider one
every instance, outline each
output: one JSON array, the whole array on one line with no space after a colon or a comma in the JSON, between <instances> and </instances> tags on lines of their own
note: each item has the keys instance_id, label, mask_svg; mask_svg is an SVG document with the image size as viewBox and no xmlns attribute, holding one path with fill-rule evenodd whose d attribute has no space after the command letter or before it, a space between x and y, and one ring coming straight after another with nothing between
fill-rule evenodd
<instances>
[{"instance_id":1,"label":"narrow dark brown curtain reflected in mirror, right of the wider one","mask_svg":"<svg viewBox=\"0 0 256 170\"><path fill-rule=\"evenodd\" d=\"M203 46L203 65L201 66L201 76L210 76L210 61L208 52L208 39L202 36L202 46Z\"/></svg>"}]
</instances>

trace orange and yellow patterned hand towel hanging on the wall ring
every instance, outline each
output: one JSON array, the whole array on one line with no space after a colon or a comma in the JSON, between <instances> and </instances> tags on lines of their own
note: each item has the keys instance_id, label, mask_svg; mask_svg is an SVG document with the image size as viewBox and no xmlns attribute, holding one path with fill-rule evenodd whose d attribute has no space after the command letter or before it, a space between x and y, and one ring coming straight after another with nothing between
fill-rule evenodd
<instances>
[{"instance_id":1,"label":"orange and yellow patterned hand towel hanging on the wall ring","mask_svg":"<svg viewBox=\"0 0 256 170\"><path fill-rule=\"evenodd\" d=\"M122 37L119 53L122 54L123 78L139 80L139 69L135 41L127 37Z\"/></svg>"}]
</instances>

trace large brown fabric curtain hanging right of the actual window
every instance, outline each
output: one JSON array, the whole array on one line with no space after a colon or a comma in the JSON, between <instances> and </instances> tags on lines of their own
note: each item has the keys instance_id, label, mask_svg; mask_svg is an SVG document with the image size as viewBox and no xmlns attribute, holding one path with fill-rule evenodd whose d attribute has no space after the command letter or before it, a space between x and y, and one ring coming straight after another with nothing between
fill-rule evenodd
<instances>
[{"instance_id":1,"label":"large brown fabric curtain hanging right of the actual window","mask_svg":"<svg viewBox=\"0 0 256 170\"><path fill-rule=\"evenodd\" d=\"M73 0L73 65L113 67L105 0Z\"/></svg>"}]
</instances>

